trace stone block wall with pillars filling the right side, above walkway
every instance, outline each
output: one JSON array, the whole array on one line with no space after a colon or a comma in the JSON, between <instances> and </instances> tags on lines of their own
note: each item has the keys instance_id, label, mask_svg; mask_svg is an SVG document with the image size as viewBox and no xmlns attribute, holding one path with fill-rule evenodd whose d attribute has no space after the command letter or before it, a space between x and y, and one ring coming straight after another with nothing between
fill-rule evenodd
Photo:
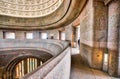
<instances>
[{"instance_id":1,"label":"stone block wall with pillars filling the right side, above walkway","mask_svg":"<svg viewBox=\"0 0 120 79\"><path fill-rule=\"evenodd\" d=\"M120 76L120 0L105 4L89 0L80 14L80 53L90 67Z\"/></svg>"}]
</instances>

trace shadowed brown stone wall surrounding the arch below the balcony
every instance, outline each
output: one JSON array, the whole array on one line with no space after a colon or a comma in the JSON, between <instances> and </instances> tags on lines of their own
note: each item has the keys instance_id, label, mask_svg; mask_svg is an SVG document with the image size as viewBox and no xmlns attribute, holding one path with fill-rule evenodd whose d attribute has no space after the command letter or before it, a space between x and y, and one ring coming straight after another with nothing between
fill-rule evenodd
<instances>
[{"instance_id":1,"label":"shadowed brown stone wall surrounding the arch below the balcony","mask_svg":"<svg viewBox=\"0 0 120 79\"><path fill-rule=\"evenodd\" d=\"M15 59L24 59L25 57L37 57L43 62L52 57L51 54L34 49L18 49L18 50L4 50L0 51L0 67L5 67Z\"/></svg>"}]
</instances>

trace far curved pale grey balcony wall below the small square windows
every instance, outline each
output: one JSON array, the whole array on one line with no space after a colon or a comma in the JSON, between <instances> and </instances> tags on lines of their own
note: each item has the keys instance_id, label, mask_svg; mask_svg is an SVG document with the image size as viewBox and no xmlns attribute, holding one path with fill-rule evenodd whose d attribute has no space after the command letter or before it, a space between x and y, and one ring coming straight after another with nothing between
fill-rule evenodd
<instances>
[{"instance_id":1,"label":"far curved pale grey balcony wall below the small square windows","mask_svg":"<svg viewBox=\"0 0 120 79\"><path fill-rule=\"evenodd\" d=\"M36 50L48 50L51 55L56 56L68 45L68 42L58 40L10 40L0 39L0 51L2 50L15 50L15 49L36 49ZM47 52L48 52L47 51Z\"/></svg>"}]
</instances>

